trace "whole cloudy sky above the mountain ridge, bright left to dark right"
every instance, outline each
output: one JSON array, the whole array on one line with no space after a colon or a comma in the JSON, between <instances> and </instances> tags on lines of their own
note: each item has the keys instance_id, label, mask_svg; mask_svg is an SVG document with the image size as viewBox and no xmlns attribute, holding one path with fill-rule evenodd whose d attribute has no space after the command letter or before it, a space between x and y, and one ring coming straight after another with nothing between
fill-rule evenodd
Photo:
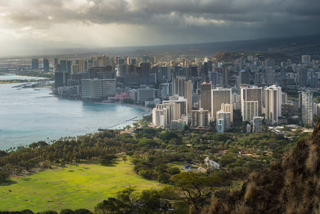
<instances>
[{"instance_id":1,"label":"whole cloudy sky above the mountain ridge, bright left to dark right","mask_svg":"<svg viewBox=\"0 0 320 214\"><path fill-rule=\"evenodd\" d=\"M319 0L0 0L0 55L318 34L319 11Z\"/></svg>"}]
</instances>

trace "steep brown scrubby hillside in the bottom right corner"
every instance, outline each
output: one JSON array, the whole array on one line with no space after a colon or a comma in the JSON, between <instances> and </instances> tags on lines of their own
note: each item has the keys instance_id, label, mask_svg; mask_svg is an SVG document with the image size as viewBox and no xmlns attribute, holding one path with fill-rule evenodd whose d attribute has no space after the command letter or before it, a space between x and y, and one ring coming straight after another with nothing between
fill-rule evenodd
<instances>
[{"instance_id":1,"label":"steep brown scrubby hillside in the bottom right corner","mask_svg":"<svg viewBox=\"0 0 320 214\"><path fill-rule=\"evenodd\" d=\"M320 121L280 163L251 175L242 190L202 213L320 213Z\"/></svg>"}]
</instances>

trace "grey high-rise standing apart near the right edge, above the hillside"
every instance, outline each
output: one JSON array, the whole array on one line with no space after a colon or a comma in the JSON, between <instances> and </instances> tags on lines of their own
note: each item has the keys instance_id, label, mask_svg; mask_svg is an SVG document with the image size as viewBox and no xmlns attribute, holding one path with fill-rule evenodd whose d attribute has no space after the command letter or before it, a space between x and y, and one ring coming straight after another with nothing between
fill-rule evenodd
<instances>
[{"instance_id":1,"label":"grey high-rise standing apart near the right edge, above the hillside","mask_svg":"<svg viewBox=\"0 0 320 214\"><path fill-rule=\"evenodd\" d=\"M302 123L307 126L314 124L314 93L302 92Z\"/></svg>"}]
</instances>

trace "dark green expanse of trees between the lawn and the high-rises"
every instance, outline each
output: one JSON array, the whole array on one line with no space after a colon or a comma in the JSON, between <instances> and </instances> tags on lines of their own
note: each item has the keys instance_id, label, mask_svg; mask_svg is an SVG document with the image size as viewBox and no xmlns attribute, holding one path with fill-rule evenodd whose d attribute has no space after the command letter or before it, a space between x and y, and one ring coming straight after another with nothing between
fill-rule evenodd
<instances>
[{"instance_id":1,"label":"dark green expanse of trees between the lawn and the high-rises","mask_svg":"<svg viewBox=\"0 0 320 214\"><path fill-rule=\"evenodd\" d=\"M185 209L185 206L180 208L180 203L190 205L197 213L210 203L212 195L228 189L232 183L230 180L244 179L253 170L268 168L272 160L281 158L281 153L289 150L297 140L297 137L284 138L267 128L251 134L171 132L149 128L148 119L133 124L133 136L109 130L0 151L0 182L6 182L12 173L28 170L40 163L44 166L58 163L63 168L66 164L96 159L102 165L110 165L119 153L121 156L126 153L123 161L131 156L135 173L160 183L171 183L175 188L141 193L132 187L125 188L117 197L96 205L97 213L130 213L133 209L139 210L136 213L159 213L166 212L170 204L176 210ZM242 153L256 156L241 156ZM205 168L203 160L206 157L220 163L226 170L180 173L180 168L167 165L173 161L184 161Z\"/></svg>"}]
</instances>

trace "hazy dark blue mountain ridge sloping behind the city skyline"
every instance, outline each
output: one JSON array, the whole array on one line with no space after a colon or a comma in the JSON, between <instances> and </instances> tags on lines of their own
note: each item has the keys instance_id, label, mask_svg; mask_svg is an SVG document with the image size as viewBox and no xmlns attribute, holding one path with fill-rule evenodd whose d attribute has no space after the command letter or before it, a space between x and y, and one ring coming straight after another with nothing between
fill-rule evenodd
<instances>
[{"instance_id":1,"label":"hazy dark blue mountain ridge sloping behind the city skyline","mask_svg":"<svg viewBox=\"0 0 320 214\"><path fill-rule=\"evenodd\" d=\"M220 41L199 44L168 44L159 46L128 46L128 47L81 47L78 44L55 41L53 46L39 43L35 49L28 50L28 54L47 55L75 55L93 56L92 54L110 54L111 56L155 56L166 59L173 57L204 58L218 52L252 52L252 53L282 53L285 56L301 56L309 54L313 58L320 58L320 34L309 36L291 36L282 38L252 39L239 41ZM78 47L77 47L78 46ZM57 48L56 48L57 47ZM61 48L63 47L63 48ZM37 53L37 54L35 54Z\"/></svg>"}]
</instances>

